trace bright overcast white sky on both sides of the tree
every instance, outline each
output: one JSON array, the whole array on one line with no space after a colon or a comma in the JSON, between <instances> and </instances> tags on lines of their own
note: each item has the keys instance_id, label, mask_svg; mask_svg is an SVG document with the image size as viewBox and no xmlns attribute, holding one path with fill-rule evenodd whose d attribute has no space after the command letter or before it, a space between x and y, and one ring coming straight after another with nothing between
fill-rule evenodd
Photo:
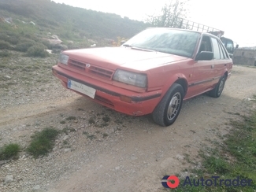
<instances>
[{"instance_id":1,"label":"bright overcast white sky on both sides of the tree","mask_svg":"<svg viewBox=\"0 0 256 192\"><path fill-rule=\"evenodd\" d=\"M66 5L116 13L143 20L158 13L166 0L53 0ZM224 36L239 46L256 46L255 0L190 0L187 19L224 31Z\"/></svg>"}]
</instances>

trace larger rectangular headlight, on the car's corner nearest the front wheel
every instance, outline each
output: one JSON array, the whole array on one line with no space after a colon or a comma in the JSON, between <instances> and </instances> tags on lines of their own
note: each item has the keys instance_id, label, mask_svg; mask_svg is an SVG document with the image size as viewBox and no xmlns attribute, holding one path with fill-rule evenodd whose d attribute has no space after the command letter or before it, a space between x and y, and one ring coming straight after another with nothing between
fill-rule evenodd
<instances>
[{"instance_id":1,"label":"larger rectangular headlight, on the car's corner nearest the front wheel","mask_svg":"<svg viewBox=\"0 0 256 192\"><path fill-rule=\"evenodd\" d=\"M117 69L113 79L136 87L147 87L147 75Z\"/></svg>"}]
</instances>

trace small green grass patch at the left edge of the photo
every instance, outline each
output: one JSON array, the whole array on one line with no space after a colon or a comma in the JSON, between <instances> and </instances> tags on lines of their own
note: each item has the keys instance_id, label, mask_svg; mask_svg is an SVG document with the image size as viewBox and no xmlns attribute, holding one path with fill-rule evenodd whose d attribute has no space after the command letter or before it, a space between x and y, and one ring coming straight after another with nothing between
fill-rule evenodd
<instances>
[{"instance_id":1,"label":"small green grass patch at the left edge of the photo","mask_svg":"<svg viewBox=\"0 0 256 192\"><path fill-rule=\"evenodd\" d=\"M17 159L20 146L16 143L10 143L0 149L0 161Z\"/></svg>"}]
</instances>

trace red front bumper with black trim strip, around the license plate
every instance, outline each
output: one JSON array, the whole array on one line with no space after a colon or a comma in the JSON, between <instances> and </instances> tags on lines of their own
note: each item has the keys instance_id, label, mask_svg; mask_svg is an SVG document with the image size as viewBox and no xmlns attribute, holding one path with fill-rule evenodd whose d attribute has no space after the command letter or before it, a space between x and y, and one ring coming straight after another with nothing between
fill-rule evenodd
<instances>
[{"instance_id":1,"label":"red front bumper with black trim strip, around the license plate","mask_svg":"<svg viewBox=\"0 0 256 192\"><path fill-rule=\"evenodd\" d=\"M124 88L113 86L98 79L83 76L80 73L69 71L58 65L54 65L52 70L54 76L61 80L61 84L65 88L69 89L67 86L68 79L94 88L96 90L95 98L90 98L76 90L73 91L110 109L128 115L143 116L152 113L161 98L161 90L137 93L132 90L125 90Z\"/></svg>"}]
</instances>

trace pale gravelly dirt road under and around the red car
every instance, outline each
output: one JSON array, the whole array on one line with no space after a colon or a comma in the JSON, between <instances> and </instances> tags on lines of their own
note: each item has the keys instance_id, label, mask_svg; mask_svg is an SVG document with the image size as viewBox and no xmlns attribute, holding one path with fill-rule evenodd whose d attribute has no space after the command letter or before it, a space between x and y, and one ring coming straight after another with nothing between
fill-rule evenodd
<instances>
[{"instance_id":1,"label":"pale gravelly dirt road under and around the red car","mask_svg":"<svg viewBox=\"0 0 256 192\"><path fill-rule=\"evenodd\" d=\"M164 175L188 175L186 159L199 161L198 150L227 134L229 120L250 112L256 68L234 66L221 98L201 95L184 102L170 127L159 127L150 116L116 113L56 83L36 95L38 101L0 109L0 146L17 142L25 148L45 127L68 130L48 157L34 160L21 152L19 161L2 164L0 191L165 191ZM4 183L6 175L13 175L11 183Z\"/></svg>"}]
</instances>

